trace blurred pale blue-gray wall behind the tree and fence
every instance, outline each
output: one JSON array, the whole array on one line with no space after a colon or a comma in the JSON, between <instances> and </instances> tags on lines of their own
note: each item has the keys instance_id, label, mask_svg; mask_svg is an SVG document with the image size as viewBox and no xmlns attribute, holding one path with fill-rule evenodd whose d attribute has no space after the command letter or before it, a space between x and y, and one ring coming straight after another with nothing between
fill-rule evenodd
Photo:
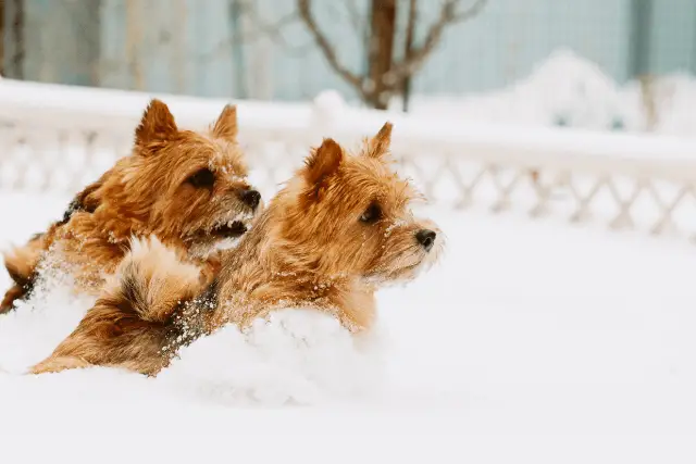
<instances>
[{"instance_id":1,"label":"blurred pale blue-gray wall behind the tree and fence","mask_svg":"<svg viewBox=\"0 0 696 464\"><path fill-rule=\"evenodd\" d=\"M289 13L295 1L252 0L266 24ZM248 21L235 17L245 2L249 0L25 0L23 71L35 80L198 96L300 100L333 88L356 98L300 23L279 33L283 43L275 38L235 40L259 35ZM353 3L364 16L369 0ZM419 2L419 38L439 3ZM636 13L646 3L650 14ZM340 61L364 73L363 37L345 3L316 0L315 16ZM636 29L638 20L649 28ZM447 30L414 79L413 91L499 88L561 47L597 62L619 81L638 72L694 72L696 2L489 0L480 16Z\"/></svg>"}]
</instances>

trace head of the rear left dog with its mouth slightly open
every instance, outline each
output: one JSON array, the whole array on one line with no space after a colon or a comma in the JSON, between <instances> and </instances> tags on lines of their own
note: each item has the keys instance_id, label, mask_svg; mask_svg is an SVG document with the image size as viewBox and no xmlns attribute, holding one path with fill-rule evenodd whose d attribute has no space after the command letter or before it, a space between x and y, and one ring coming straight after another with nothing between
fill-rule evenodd
<instances>
[{"instance_id":1,"label":"head of the rear left dog with its mouth slightly open","mask_svg":"<svg viewBox=\"0 0 696 464\"><path fill-rule=\"evenodd\" d=\"M235 106L225 106L208 130L192 131L179 129L166 104L152 100L132 155L107 174L83 199L107 227L126 223L129 234L179 241L194 254L241 236L262 209L247 181Z\"/></svg>"}]
</instances>

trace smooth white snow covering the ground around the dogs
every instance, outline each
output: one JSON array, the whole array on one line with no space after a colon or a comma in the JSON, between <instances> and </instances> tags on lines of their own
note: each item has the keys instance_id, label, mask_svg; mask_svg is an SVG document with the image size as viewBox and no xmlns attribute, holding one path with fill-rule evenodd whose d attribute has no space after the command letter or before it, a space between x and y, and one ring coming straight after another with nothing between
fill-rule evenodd
<instances>
[{"instance_id":1,"label":"smooth white snow covering the ground around the dogs","mask_svg":"<svg viewBox=\"0 0 696 464\"><path fill-rule=\"evenodd\" d=\"M22 212L4 222L1 244L64 204L1 197L3 217ZM380 293L386 366L372 394L237 404L229 339L162 379L105 368L21 375L70 330L51 315L65 310L61 300L0 318L0 461L696 459L696 248L476 210L430 214L447 253L418 281Z\"/></svg>"}]
</instances>

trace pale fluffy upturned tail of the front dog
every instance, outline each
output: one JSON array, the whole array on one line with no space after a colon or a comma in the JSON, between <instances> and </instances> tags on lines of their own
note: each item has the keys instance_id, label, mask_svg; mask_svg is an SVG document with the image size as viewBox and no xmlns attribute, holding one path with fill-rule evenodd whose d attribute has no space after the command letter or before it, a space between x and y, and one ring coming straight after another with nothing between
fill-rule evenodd
<instances>
[{"instance_id":1,"label":"pale fluffy upturned tail of the front dog","mask_svg":"<svg viewBox=\"0 0 696 464\"><path fill-rule=\"evenodd\" d=\"M134 239L107 292L121 311L150 323L167 322L176 309L202 290L201 269L157 237Z\"/></svg>"}]
</instances>

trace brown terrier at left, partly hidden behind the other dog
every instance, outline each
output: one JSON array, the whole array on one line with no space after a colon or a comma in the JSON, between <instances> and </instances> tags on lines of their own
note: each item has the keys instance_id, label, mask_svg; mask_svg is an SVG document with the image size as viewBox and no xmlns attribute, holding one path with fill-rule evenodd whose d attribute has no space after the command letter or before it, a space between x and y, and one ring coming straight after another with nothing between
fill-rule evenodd
<instances>
[{"instance_id":1,"label":"brown terrier at left, partly hidden behind the other dog","mask_svg":"<svg viewBox=\"0 0 696 464\"><path fill-rule=\"evenodd\" d=\"M179 130L166 104L152 100L136 128L133 153L77 195L63 221L5 255L15 284L0 313L54 271L73 275L78 291L98 294L133 237L156 235L188 258L204 260L221 241L241 236L261 196L247 184L236 138L234 106L225 106L210 130L196 133Z\"/></svg>"}]
</instances>

